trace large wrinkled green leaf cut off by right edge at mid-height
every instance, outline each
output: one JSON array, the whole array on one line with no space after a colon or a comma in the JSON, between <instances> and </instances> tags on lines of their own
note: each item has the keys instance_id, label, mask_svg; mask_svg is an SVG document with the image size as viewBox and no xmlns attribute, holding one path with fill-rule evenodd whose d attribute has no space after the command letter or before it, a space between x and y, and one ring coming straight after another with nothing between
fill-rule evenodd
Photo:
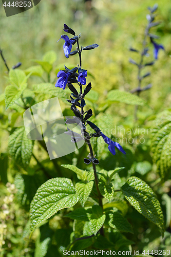
<instances>
[{"instance_id":1,"label":"large wrinkled green leaf cut off by right edge at mid-height","mask_svg":"<svg viewBox=\"0 0 171 257\"><path fill-rule=\"evenodd\" d=\"M167 179L171 171L171 112L165 111L157 116L151 138L153 161L163 179Z\"/></svg>"}]
</instances>

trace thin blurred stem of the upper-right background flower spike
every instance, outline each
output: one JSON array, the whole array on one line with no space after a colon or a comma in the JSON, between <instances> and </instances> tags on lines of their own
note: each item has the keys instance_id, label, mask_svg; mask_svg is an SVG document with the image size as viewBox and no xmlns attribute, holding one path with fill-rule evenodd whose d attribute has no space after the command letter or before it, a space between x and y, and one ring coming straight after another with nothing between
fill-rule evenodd
<instances>
[{"instance_id":1,"label":"thin blurred stem of the upper-right background flower spike","mask_svg":"<svg viewBox=\"0 0 171 257\"><path fill-rule=\"evenodd\" d=\"M143 43L142 43L142 51L141 51L141 58L140 58L140 62L138 64L138 89L141 89L141 69L142 69L142 65L143 65L143 61L144 61L144 51L145 51L145 47L146 47L146 39L147 39L147 35L149 33L149 24L150 22L148 22L146 28L145 28L145 33L144 33L144 39L143 39ZM137 90L137 95L139 96L141 93L141 90ZM135 121L137 121L137 111L138 111L138 105L135 106L135 113L134 113L134 118Z\"/></svg>"}]
</instances>

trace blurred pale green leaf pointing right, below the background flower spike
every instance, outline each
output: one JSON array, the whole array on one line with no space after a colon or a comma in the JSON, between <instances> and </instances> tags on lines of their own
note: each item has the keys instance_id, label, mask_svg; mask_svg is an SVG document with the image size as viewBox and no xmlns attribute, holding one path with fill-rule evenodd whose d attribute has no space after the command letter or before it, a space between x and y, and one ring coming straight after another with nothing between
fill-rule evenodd
<instances>
[{"instance_id":1,"label":"blurred pale green leaf pointing right, below the background flower spike","mask_svg":"<svg viewBox=\"0 0 171 257\"><path fill-rule=\"evenodd\" d=\"M120 91L118 89L110 90L107 94L107 100L109 101L117 101L121 103L127 103L127 104L136 104L136 105L145 105L146 101L142 98L133 95L126 91Z\"/></svg>"}]
</instances>

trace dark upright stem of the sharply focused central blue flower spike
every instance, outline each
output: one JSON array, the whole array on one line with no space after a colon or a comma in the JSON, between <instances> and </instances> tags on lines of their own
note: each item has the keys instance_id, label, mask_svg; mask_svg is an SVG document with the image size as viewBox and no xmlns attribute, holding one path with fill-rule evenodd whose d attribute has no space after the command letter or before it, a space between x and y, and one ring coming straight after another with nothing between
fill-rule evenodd
<instances>
[{"instance_id":1,"label":"dark upright stem of the sharply focused central blue flower spike","mask_svg":"<svg viewBox=\"0 0 171 257\"><path fill-rule=\"evenodd\" d=\"M82 49L80 50L79 40L77 40L77 46L78 46L78 54L79 54L79 59L80 59L80 66L79 67L81 68L81 65L82 65L81 51L82 51ZM79 83L79 85L80 85L80 97L82 98L82 97L84 97L83 96L82 84ZM81 106L81 121L82 121L83 124L85 124L85 122L84 122L84 107L82 107L82 106ZM85 135L85 141L88 144L88 147L89 147L89 150L90 150L91 160L93 160L94 155L93 155L93 150L92 150L92 146L91 146L91 142L90 142L90 135L89 134L87 135L87 133ZM93 172L94 172L94 181L95 181L95 185L96 185L96 189L97 189L97 193L98 193L98 198L99 198L99 205L103 209L102 195L100 193L99 186L98 186L99 180L98 180L98 175L97 175L97 171L96 171L96 164L94 164L93 162L92 162L92 167L93 167ZM100 229L100 234L104 236L103 227Z\"/></svg>"}]
</instances>

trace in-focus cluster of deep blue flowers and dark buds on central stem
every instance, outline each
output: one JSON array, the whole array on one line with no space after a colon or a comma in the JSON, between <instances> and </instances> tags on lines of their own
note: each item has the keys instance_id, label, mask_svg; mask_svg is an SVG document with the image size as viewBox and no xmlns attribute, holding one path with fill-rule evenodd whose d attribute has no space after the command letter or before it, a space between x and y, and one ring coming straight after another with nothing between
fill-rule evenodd
<instances>
[{"instance_id":1,"label":"in-focus cluster of deep blue flowers and dark buds on central stem","mask_svg":"<svg viewBox=\"0 0 171 257\"><path fill-rule=\"evenodd\" d=\"M61 35L60 39L63 39L65 41L64 47L63 47L64 54L65 54L66 58L69 58L69 56L73 56L74 54L78 53L79 58L80 58L80 65L79 65L79 67L74 67L73 69L68 69L65 66L65 70L60 70L57 74L58 80L56 81L55 86L65 89L66 85L68 85L68 88L71 91L70 100L68 99L67 101L69 103L71 103L71 110L73 111L75 116L73 117L73 119L67 119L66 124L71 124L71 123L80 124L80 122L81 122L81 127L82 127L81 135L77 134L77 133L73 134L73 132L70 131L69 128L66 133L71 136L72 142L79 142L80 140L85 139L85 141L89 145L89 148L90 148L90 154L88 156L89 158L88 159L84 158L84 162L86 164L89 164L91 162L93 164L99 164L98 159L96 159L92 155L92 149L90 146L90 138L91 137L102 136L105 143L108 144L108 149L109 149L110 153L113 155L116 154L115 147L119 151L121 151L123 154L126 154L125 151L122 149L122 146L119 143L113 142L110 138L106 137L101 132L101 130L98 126L96 126L94 123L92 123L91 121L88 120L92 116L92 110L89 109L87 112L84 112L84 106L86 105L84 98L91 90L91 83L89 82L87 84L87 86L85 87L84 92L83 92L82 86L86 85L87 70L82 68L81 53L82 53L82 50L91 50L91 49L97 48L98 44L92 44L92 45L80 48L80 46L79 46L80 36L75 35L74 30L69 28L66 24L64 24L64 31L74 35L71 39L69 39L68 36L65 34ZM77 48L76 48L76 50L71 52L72 45L74 45L75 43L77 43ZM73 83L77 83L80 86L80 93L73 86ZM95 133L89 134L86 131L87 124L95 131Z\"/></svg>"}]
</instances>

